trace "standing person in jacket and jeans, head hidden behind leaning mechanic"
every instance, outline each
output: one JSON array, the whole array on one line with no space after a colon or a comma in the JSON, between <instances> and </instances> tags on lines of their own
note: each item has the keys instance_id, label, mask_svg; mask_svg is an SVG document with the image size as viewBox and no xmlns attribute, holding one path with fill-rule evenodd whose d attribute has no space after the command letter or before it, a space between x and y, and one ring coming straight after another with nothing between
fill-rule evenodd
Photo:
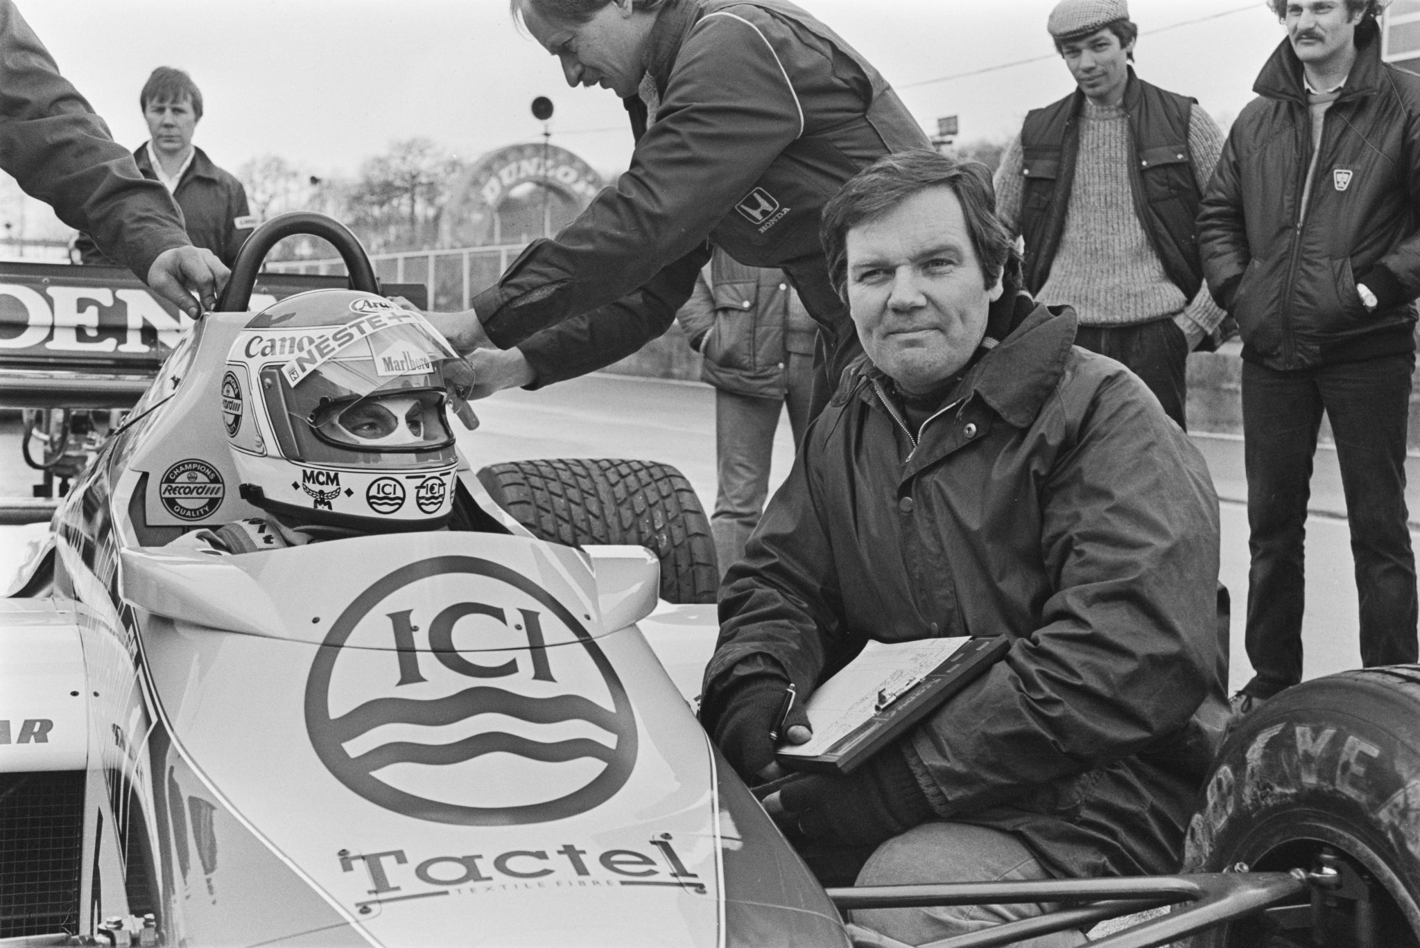
<instances>
[{"instance_id":1,"label":"standing person in jacket and jeans, head hidden behind leaning mechanic","mask_svg":"<svg viewBox=\"0 0 1420 948\"><path fill-rule=\"evenodd\" d=\"M676 319L704 356L700 377L714 386L719 487L710 532L723 575L744 553L770 494L781 407L794 447L804 440L816 329L782 271L746 267L720 248Z\"/></svg>"}]
</instances>

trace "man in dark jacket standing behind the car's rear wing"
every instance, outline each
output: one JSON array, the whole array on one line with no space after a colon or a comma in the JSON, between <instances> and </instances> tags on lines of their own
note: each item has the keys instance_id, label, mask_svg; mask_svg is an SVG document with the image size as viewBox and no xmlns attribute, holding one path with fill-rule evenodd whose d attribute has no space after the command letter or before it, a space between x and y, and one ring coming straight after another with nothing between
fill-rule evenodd
<instances>
[{"instance_id":1,"label":"man in dark jacket standing behind the car's rear wing","mask_svg":"<svg viewBox=\"0 0 1420 948\"><path fill-rule=\"evenodd\" d=\"M202 91L182 70L160 65L138 95L152 136L133 152L143 177L160 182L182 209L187 237L227 267L256 227L241 182L217 167L192 143L202 119ZM85 264L109 264L88 234L75 244Z\"/></svg>"}]
</instances>

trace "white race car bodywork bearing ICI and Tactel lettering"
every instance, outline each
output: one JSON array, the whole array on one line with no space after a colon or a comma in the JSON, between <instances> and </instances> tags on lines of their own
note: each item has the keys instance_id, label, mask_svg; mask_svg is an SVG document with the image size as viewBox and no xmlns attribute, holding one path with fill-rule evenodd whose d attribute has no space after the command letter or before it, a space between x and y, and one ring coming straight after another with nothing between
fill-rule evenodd
<instances>
[{"instance_id":1,"label":"white race car bodywork bearing ICI and Tactel lettering","mask_svg":"<svg viewBox=\"0 0 1420 948\"><path fill-rule=\"evenodd\" d=\"M50 541L54 595L0 600L0 773L82 786L64 931L846 944L687 707L713 607L657 606L642 548L534 539L466 465L464 502L503 532L169 545L258 515L214 396L246 319L204 318L75 484ZM193 460L200 477L172 475ZM163 504L159 483L216 502Z\"/></svg>"}]
</instances>

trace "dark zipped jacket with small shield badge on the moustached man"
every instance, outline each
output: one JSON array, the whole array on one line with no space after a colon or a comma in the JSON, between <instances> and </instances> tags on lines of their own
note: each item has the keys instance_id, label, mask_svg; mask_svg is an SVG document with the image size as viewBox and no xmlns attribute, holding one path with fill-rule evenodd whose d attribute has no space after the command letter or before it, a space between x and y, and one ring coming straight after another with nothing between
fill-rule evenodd
<instances>
[{"instance_id":1,"label":"dark zipped jacket with small shield badge on the moustached man","mask_svg":"<svg viewBox=\"0 0 1420 948\"><path fill-rule=\"evenodd\" d=\"M1411 352L1420 297L1420 77L1380 61L1356 27L1356 62L1326 111L1315 180L1302 64L1284 40L1228 133L1203 199L1208 290L1238 322L1242 358L1302 369ZM1363 282L1379 305L1367 312Z\"/></svg>"}]
</instances>

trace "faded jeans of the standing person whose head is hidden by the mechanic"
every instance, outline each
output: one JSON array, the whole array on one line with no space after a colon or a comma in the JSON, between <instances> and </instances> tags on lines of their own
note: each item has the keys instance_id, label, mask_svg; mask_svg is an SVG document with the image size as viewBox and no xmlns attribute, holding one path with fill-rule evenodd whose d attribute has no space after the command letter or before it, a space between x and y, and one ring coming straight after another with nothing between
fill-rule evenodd
<instances>
[{"instance_id":1,"label":"faded jeans of the standing person whose head is hidden by the mechanic","mask_svg":"<svg viewBox=\"0 0 1420 948\"><path fill-rule=\"evenodd\" d=\"M798 447L808 427L814 356L785 353L784 399L764 399L716 389L714 440L717 492L710 534L714 536L720 575L744 555L744 544L760 522L770 495L770 460L780 410L788 407L790 430Z\"/></svg>"}]
</instances>

